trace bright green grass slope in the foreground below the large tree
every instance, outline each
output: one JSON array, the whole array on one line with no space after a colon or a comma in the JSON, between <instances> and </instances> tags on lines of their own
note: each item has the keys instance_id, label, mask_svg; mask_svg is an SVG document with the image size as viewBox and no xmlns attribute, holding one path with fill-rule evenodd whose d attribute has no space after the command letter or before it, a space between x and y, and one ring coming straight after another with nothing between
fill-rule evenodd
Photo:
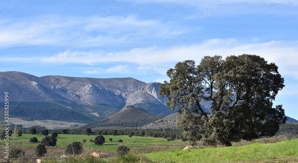
<instances>
[{"instance_id":1,"label":"bright green grass slope in the foreground below the large tree","mask_svg":"<svg viewBox=\"0 0 298 163\"><path fill-rule=\"evenodd\" d=\"M298 139L241 147L169 150L144 155L153 162L298 162Z\"/></svg>"}]
</instances>

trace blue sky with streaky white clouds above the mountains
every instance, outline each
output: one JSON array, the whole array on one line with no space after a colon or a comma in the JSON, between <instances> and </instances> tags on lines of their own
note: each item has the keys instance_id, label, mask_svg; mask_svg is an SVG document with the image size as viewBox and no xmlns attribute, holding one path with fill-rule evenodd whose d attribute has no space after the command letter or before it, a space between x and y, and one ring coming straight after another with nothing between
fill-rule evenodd
<instances>
[{"instance_id":1,"label":"blue sky with streaky white clouds above the mountains","mask_svg":"<svg viewBox=\"0 0 298 163\"><path fill-rule=\"evenodd\" d=\"M298 119L297 0L0 1L0 71L163 82L184 60L254 54Z\"/></svg>"}]
</instances>

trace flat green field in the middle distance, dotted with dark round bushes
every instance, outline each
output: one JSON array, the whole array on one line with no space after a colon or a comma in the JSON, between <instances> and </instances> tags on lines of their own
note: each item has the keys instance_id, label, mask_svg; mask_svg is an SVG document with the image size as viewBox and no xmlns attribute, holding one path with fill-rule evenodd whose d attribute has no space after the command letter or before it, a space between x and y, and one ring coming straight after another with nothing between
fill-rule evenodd
<instances>
[{"instance_id":1,"label":"flat green field in the middle distance, dotted with dark round bushes","mask_svg":"<svg viewBox=\"0 0 298 163\"><path fill-rule=\"evenodd\" d=\"M30 137L36 137L38 141L41 141L42 138L44 138L43 135L40 134L23 134L20 136L20 138L16 138L15 142L19 145L31 145L31 146L37 146L39 143L27 143L29 142ZM66 147L72 142L81 142L83 144L84 148L88 149L102 149L102 150L114 150L116 151L117 148L120 145L125 145L130 149L134 148L149 148L159 145L182 145L187 144L187 142L181 142L181 141L167 141L164 139L156 139L156 138L150 138L150 137L139 137L139 136L112 136L112 135L103 135L105 138L105 145L95 145L94 142L90 142L90 139L95 139L95 137L98 135L68 135L68 134L58 134L57 139L57 146ZM112 138L112 142L109 141L109 138ZM86 140L86 142L82 142L83 139ZM117 140L123 140L123 142L117 142ZM135 141L135 142L134 142ZM26 144L21 143L26 142Z\"/></svg>"}]
</instances>

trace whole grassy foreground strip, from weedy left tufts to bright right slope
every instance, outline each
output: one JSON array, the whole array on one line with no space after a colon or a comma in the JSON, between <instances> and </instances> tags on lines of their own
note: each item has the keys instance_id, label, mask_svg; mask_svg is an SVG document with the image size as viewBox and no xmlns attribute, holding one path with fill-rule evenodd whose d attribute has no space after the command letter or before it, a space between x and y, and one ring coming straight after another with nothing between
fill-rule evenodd
<instances>
[{"instance_id":1,"label":"whole grassy foreground strip, from weedy left tufts to bright right slope","mask_svg":"<svg viewBox=\"0 0 298 163\"><path fill-rule=\"evenodd\" d=\"M180 163L180 162L298 162L298 139L270 144L254 143L240 147L220 147L187 150L169 150L147 154L130 153L99 159L92 156L72 156L49 160L50 163Z\"/></svg>"}]
</instances>

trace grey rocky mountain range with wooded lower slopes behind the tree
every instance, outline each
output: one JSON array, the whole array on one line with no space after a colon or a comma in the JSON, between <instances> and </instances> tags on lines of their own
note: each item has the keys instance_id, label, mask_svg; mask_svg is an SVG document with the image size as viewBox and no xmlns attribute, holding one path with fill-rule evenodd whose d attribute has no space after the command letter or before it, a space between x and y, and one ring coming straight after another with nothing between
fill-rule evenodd
<instances>
[{"instance_id":1,"label":"grey rocky mountain range with wooded lower slopes behind the tree","mask_svg":"<svg viewBox=\"0 0 298 163\"><path fill-rule=\"evenodd\" d=\"M4 107L4 92L8 91L9 115L22 120L89 123L90 127L102 123L140 127L160 122L159 117L170 114L173 114L170 119L176 117L177 111L167 108L167 99L158 95L160 84L129 77L37 77L24 72L0 72L0 94L3 94L0 102ZM208 111L211 104L204 101L202 104ZM4 108L0 115L3 119Z\"/></svg>"}]
</instances>

